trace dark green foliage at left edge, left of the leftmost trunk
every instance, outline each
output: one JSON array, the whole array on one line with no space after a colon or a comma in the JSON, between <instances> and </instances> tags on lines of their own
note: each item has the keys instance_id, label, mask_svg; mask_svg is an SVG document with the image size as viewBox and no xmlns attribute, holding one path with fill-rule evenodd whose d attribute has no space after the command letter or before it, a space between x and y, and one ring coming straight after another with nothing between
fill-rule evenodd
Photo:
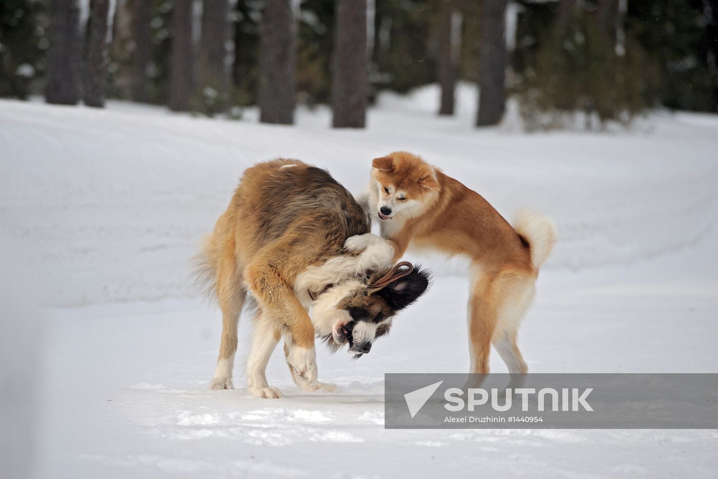
<instances>
[{"instance_id":1,"label":"dark green foliage at left edge, left of the leftmost trunk","mask_svg":"<svg viewBox=\"0 0 718 479\"><path fill-rule=\"evenodd\" d=\"M0 96L39 93L48 45L44 2L0 1Z\"/></svg>"}]
</instances>

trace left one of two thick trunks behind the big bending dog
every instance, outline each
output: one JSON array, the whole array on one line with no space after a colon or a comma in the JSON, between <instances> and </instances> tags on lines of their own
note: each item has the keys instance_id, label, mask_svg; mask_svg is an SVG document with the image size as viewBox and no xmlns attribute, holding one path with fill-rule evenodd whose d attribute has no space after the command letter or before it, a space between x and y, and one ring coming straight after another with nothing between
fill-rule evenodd
<instances>
[{"instance_id":1,"label":"left one of two thick trunks behind the big bending dog","mask_svg":"<svg viewBox=\"0 0 718 479\"><path fill-rule=\"evenodd\" d=\"M294 123L296 24L292 0L266 0L259 61L259 121Z\"/></svg>"}]
</instances>

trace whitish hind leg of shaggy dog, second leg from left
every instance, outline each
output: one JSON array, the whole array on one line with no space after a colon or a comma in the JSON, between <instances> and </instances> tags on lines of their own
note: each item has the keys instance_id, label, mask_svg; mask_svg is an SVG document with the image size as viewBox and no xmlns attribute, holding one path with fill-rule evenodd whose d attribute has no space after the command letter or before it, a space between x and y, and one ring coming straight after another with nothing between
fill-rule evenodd
<instances>
[{"instance_id":1,"label":"whitish hind leg of shaggy dog, second leg from left","mask_svg":"<svg viewBox=\"0 0 718 479\"><path fill-rule=\"evenodd\" d=\"M264 311L258 311L254 318L252 349L247 358L247 388L252 396L258 398L281 398L278 389L267 383L266 368L271 353L281 338L281 329Z\"/></svg>"}]
</instances>

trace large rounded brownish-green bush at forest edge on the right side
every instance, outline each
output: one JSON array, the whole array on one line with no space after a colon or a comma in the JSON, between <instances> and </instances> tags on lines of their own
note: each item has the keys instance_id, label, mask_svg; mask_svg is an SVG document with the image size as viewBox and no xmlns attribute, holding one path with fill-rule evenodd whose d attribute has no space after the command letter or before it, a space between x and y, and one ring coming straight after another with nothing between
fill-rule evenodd
<instances>
[{"instance_id":1,"label":"large rounded brownish-green bush at forest edge on the right side","mask_svg":"<svg viewBox=\"0 0 718 479\"><path fill-rule=\"evenodd\" d=\"M617 41L589 12L554 24L518 83L527 129L563 127L581 112L588 129L628 124L653 106L656 72L631 35Z\"/></svg>"}]
</instances>

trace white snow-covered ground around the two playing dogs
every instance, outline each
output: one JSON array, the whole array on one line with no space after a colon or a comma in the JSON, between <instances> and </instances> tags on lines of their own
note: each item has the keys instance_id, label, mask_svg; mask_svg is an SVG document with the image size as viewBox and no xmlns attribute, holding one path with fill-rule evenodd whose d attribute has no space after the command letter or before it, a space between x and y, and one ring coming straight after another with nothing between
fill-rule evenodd
<instances>
[{"instance_id":1,"label":"white snow-covered ground around the two playing dogs","mask_svg":"<svg viewBox=\"0 0 718 479\"><path fill-rule=\"evenodd\" d=\"M476 131L464 93L444 119L431 92L383 96L365 131L330 129L325 109L280 127L252 110L233 122L0 101L0 417L13 419L0 444L22 459L18 438L34 431L30 460L49 478L714 475L718 431L383 429L383 373L468 366L465 273L435 257L423 260L432 290L370 355L318 347L337 393L299 391L277 352L268 377L284 398L248 396L246 318L238 389L207 390L220 314L189 261L241 171L301 158L358 191L370 160L400 149L507 216L530 206L556 218L560 242L521 329L533 372L718 371L718 117ZM491 366L504 370L498 355Z\"/></svg>"}]
</instances>

